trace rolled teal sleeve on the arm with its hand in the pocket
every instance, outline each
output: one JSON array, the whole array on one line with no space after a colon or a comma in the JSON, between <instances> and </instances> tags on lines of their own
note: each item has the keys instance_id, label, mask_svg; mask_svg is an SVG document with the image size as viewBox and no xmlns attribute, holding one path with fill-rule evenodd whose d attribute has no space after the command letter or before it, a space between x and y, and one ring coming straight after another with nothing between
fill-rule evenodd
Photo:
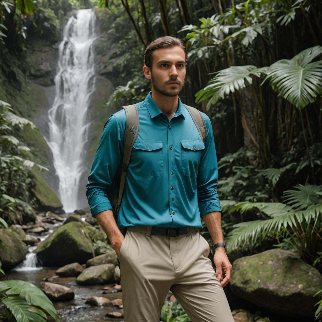
<instances>
[{"instance_id":1,"label":"rolled teal sleeve on the arm with its hand in the pocket","mask_svg":"<svg viewBox=\"0 0 322 322\"><path fill-rule=\"evenodd\" d=\"M93 217L104 210L112 209L108 191L121 164L122 149L118 121L112 115L104 125L86 185L86 196Z\"/></svg>"}]
</instances>

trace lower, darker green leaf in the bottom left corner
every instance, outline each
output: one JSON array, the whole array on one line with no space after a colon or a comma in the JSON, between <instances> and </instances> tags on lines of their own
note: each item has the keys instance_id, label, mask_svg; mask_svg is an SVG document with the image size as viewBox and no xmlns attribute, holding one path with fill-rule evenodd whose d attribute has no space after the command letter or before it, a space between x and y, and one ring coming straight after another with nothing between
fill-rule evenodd
<instances>
[{"instance_id":1,"label":"lower, darker green leaf in the bottom left corner","mask_svg":"<svg viewBox=\"0 0 322 322\"><path fill-rule=\"evenodd\" d=\"M8 296L2 298L2 302L17 322L47 322L46 314L41 309L31 306L23 297Z\"/></svg>"}]
</instances>

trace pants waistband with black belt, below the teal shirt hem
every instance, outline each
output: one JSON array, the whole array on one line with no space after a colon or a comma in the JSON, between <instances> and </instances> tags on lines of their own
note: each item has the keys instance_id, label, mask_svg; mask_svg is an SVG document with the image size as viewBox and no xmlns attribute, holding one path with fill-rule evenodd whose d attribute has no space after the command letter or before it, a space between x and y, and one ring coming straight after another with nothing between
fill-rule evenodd
<instances>
[{"instance_id":1,"label":"pants waistband with black belt, below the teal shirt hem","mask_svg":"<svg viewBox=\"0 0 322 322\"><path fill-rule=\"evenodd\" d=\"M197 227L178 227L178 228L166 228L166 227L157 227L157 226L129 226L127 227L128 230L134 232L143 232L146 233L147 236L150 235L159 235L159 236L166 236L166 237L175 237L179 235L186 234L187 236L190 233L197 231Z\"/></svg>"}]
</instances>

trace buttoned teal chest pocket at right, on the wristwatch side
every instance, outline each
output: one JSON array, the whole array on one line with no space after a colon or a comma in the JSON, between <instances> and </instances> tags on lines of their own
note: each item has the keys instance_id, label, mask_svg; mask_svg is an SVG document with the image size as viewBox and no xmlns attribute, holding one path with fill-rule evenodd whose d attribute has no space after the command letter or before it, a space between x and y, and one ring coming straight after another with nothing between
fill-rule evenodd
<instances>
[{"instance_id":1,"label":"buttoned teal chest pocket at right, on the wristwatch side","mask_svg":"<svg viewBox=\"0 0 322 322\"><path fill-rule=\"evenodd\" d=\"M196 177L200 158L204 150L204 142L199 140L183 140L181 142L181 173Z\"/></svg>"}]
</instances>

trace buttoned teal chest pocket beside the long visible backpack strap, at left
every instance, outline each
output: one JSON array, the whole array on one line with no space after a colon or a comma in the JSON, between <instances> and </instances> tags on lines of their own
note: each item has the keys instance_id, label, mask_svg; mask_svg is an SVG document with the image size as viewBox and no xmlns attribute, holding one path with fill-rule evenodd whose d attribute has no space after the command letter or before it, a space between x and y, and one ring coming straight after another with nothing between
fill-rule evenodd
<instances>
[{"instance_id":1,"label":"buttoned teal chest pocket beside the long visible backpack strap, at left","mask_svg":"<svg viewBox=\"0 0 322 322\"><path fill-rule=\"evenodd\" d=\"M130 166L135 175L157 177L163 172L162 141L136 141Z\"/></svg>"}]
</instances>

